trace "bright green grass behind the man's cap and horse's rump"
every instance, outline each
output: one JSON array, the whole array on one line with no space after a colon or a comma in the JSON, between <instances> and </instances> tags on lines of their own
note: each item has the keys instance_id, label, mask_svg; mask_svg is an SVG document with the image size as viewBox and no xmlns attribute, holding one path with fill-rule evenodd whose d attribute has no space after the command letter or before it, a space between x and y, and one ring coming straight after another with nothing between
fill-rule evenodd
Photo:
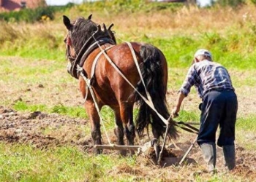
<instances>
[{"instance_id":1,"label":"bright green grass behind the man's cap and horse's rump","mask_svg":"<svg viewBox=\"0 0 256 182\"><path fill-rule=\"evenodd\" d=\"M255 39L253 37L250 39ZM213 41L211 39L203 39L203 37L197 39L197 37L181 35L165 39L151 37L150 39L144 38L142 40L159 47L159 49L164 52L170 68L186 68L190 66L193 55L199 48L211 50L214 55L214 60L227 68L238 68L243 70L256 68L256 63L252 61L252 58L255 58L256 56L256 52L241 52L238 48L237 50L225 50L223 46L233 44L233 41L230 39L228 39L230 42L221 40L214 44L211 43L211 41Z\"/></svg>"}]
</instances>

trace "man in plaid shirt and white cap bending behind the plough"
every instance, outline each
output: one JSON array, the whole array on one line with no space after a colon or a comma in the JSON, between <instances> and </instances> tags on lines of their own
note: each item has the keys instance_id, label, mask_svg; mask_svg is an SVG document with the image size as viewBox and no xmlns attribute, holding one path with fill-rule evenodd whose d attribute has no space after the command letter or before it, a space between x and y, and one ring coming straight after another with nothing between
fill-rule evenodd
<instances>
[{"instance_id":1,"label":"man in plaid shirt and white cap bending behind the plough","mask_svg":"<svg viewBox=\"0 0 256 182\"><path fill-rule=\"evenodd\" d=\"M189 94L190 88L195 85L203 100L200 104L200 130L197 143L203 152L208 172L211 174L216 172L215 138L218 126L220 132L217 145L223 149L225 166L228 170L232 170L236 165L234 141L238 103L230 75L222 65L212 61L211 52L208 50L197 50L194 57L187 77L178 92L172 115L178 115L182 101Z\"/></svg>"}]
</instances>

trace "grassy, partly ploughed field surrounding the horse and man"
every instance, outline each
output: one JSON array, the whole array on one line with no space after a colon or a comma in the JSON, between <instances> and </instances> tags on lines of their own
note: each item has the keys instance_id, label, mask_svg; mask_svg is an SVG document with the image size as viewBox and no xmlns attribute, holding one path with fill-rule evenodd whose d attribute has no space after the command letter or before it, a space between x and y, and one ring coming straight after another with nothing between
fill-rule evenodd
<instances>
[{"instance_id":1,"label":"grassy, partly ploughed field surrounding the horse and man","mask_svg":"<svg viewBox=\"0 0 256 182\"><path fill-rule=\"evenodd\" d=\"M91 12L85 7L75 7L66 15L75 19L78 15L87 17ZM59 17L53 22L33 25L1 22L0 106L1 109L12 108L18 115L0 113L4 116L0 117L0 181L255 180L255 12L252 6L241 9L191 7L147 14L112 15L106 10L102 13L95 10L93 16L97 23L115 24L113 30L119 43L145 41L164 52L169 67L167 101L170 110L195 50L201 47L211 50L214 60L227 67L238 95L236 145L241 171L214 176L195 173L203 170L203 165L159 168L143 157L119 157L115 151L93 156L90 150L83 148L91 134L78 81L66 70L63 39L67 32L61 23L63 12L57 13ZM184 100L178 120L198 121L199 103L197 93L192 90ZM49 114L49 117L26 119L26 115L34 111ZM112 138L113 112L105 107L102 116ZM5 135L8 138L4 138ZM14 136L26 140L15 141ZM47 143L48 138L54 138L56 143ZM176 142L189 143L193 138L194 135L181 131ZM44 147L39 147L37 142ZM200 150L195 147L195 151ZM200 152L195 154L199 156Z\"/></svg>"}]
</instances>

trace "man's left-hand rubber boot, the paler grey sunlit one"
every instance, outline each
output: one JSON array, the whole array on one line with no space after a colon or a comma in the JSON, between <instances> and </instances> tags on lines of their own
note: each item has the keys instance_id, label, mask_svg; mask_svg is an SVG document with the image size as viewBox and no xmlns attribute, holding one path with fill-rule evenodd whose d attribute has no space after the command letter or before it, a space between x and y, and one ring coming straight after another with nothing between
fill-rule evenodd
<instances>
[{"instance_id":1,"label":"man's left-hand rubber boot, the paler grey sunlit one","mask_svg":"<svg viewBox=\"0 0 256 182\"><path fill-rule=\"evenodd\" d=\"M216 145L215 143L202 143L200 148L203 152L203 159L206 162L208 173L216 173Z\"/></svg>"}]
</instances>

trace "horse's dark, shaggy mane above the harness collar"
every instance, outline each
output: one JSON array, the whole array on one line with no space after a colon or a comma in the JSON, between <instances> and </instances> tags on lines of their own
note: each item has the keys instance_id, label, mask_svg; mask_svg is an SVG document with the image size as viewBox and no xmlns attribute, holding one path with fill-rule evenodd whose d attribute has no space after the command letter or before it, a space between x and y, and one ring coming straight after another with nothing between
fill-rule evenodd
<instances>
[{"instance_id":1,"label":"horse's dark, shaggy mane above the harness collar","mask_svg":"<svg viewBox=\"0 0 256 182\"><path fill-rule=\"evenodd\" d=\"M99 25L91 21L91 19L85 19L84 17L79 17L77 20L75 20L75 23L72 23L72 24L73 24L73 29L71 32L72 44L74 45L74 47L76 47L76 49L80 50L81 47L83 47L83 44L85 44L86 41L91 37L91 35L95 31L97 31L97 28ZM105 24L103 24L104 31L99 31L97 36L105 36L106 34L108 34L108 38L116 42L114 33L113 31L110 30L112 26L113 24L111 24L107 30L107 28L105 27Z\"/></svg>"}]
</instances>

